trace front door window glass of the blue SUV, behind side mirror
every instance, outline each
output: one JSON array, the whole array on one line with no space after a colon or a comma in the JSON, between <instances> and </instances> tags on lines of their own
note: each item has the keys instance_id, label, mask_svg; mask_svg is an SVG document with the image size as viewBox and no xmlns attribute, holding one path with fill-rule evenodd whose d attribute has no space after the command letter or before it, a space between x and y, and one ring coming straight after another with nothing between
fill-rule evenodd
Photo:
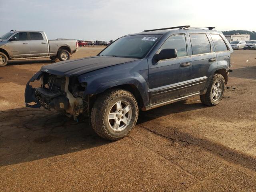
<instances>
[{"instance_id":1,"label":"front door window glass of the blue SUV, behind side mirror","mask_svg":"<svg viewBox=\"0 0 256 192\"><path fill-rule=\"evenodd\" d=\"M162 49L176 49L177 57L187 56L187 44L186 37L184 34L170 36L166 42L162 45L159 52Z\"/></svg>"}]
</instances>

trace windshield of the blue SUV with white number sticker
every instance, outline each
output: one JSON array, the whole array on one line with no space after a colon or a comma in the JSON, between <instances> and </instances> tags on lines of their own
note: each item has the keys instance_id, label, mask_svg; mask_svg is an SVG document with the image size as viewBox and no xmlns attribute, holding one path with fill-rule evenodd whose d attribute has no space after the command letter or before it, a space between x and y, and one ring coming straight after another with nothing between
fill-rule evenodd
<instances>
[{"instance_id":1,"label":"windshield of the blue SUV with white number sticker","mask_svg":"<svg viewBox=\"0 0 256 192\"><path fill-rule=\"evenodd\" d=\"M122 37L105 50L99 56L144 58L161 35L132 35Z\"/></svg>"}]
</instances>

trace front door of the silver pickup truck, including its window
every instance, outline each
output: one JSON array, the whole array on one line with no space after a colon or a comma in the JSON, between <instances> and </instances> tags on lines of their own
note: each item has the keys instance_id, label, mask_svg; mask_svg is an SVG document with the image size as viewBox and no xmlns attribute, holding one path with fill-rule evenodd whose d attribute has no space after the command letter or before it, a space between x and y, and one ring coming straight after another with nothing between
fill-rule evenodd
<instances>
[{"instance_id":1,"label":"front door of the silver pickup truck, including its window","mask_svg":"<svg viewBox=\"0 0 256 192\"><path fill-rule=\"evenodd\" d=\"M30 56L30 47L27 32L18 32L12 37L16 37L16 41L9 41L8 45L12 52L12 57L28 57Z\"/></svg>"}]
</instances>

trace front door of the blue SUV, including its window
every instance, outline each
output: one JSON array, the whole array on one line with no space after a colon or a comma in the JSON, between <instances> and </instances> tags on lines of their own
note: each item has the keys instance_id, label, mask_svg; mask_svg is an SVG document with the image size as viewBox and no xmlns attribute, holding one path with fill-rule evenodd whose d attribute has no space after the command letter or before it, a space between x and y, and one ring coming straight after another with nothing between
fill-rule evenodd
<instances>
[{"instance_id":1,"label":"front door of the blue SUV, including its window","mask_svg":"<svg viewBox=\"0 0 256 192\"><path fill-rule=\"evenodd\" d=\"M189 91L191 76L191 57L188 56L186 34L170 36L158 50L176 49L177 57L149 61L150 104L184 96Z\"/></svg>"}]
</instances>

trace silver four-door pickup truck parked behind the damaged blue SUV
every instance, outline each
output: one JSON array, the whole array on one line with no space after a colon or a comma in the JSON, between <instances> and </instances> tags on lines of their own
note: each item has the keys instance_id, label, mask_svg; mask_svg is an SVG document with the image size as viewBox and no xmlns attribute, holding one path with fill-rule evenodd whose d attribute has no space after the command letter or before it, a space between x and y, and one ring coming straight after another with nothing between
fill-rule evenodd
<instances>
[{"instance_id":1,"label":"silver four-door pickup truck parked behind the damaged blue SUV","mask_svg":"<svg viewBox=\"0 0 256 192\"><path fill-rule=\"evenodd\" d=\"M19 59L69 60L78 51L77 47L77 40L48 40L42 31L11 30L0 37L0 66Z\"/></svg>"}]
</instances>

